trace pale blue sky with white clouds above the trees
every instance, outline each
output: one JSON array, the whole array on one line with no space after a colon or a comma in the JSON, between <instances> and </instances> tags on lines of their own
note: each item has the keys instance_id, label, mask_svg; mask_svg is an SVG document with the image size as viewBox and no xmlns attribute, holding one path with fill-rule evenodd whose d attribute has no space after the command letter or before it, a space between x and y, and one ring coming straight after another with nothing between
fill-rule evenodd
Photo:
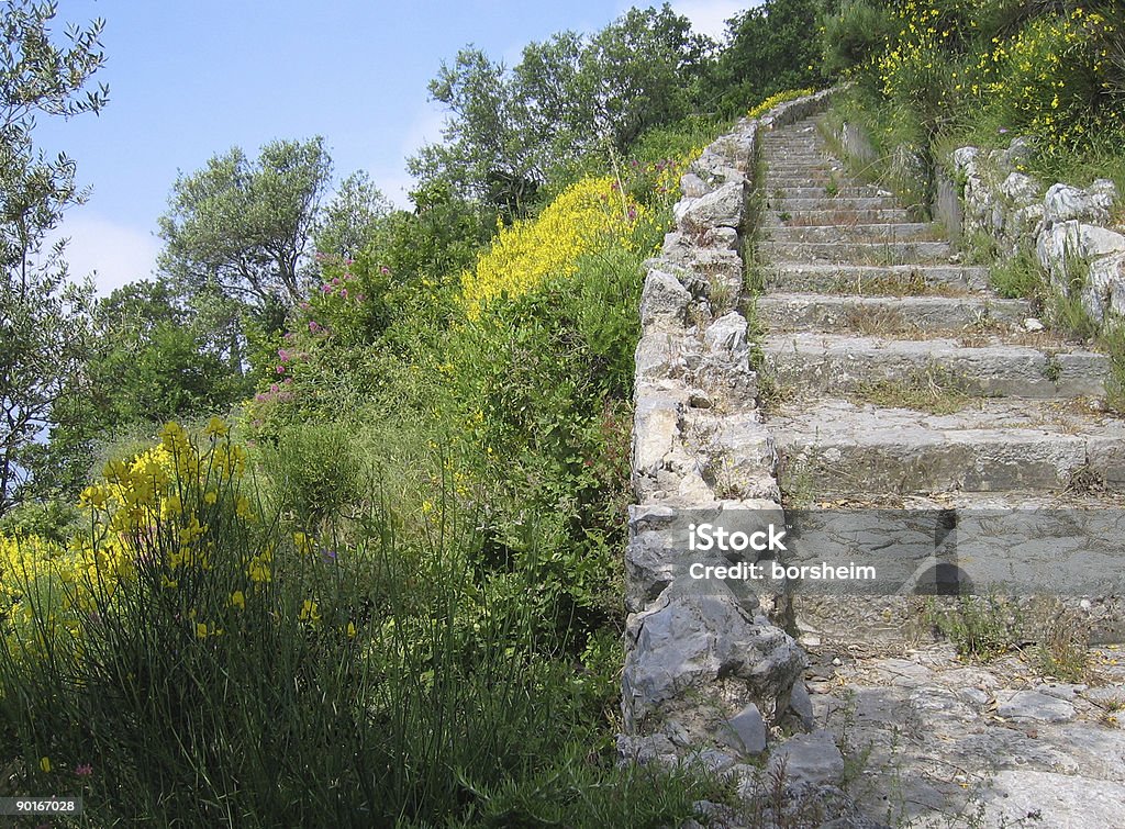
<instances>
[{"instance_id":1,"label":"pale blue sky with white clouds above the trees","mask_svg":"<svg viewBox=\"0 0 1125 829\"><path fill-rule=\"evenodd\" d=\"M93 188L58 234L71 273L97 271L99 292L148 276L156 218L177 172L234 145L255 155L276 138L323 135L338 179L367 170L407 205L405 159L440 138L443 114L426 84L442 60L474 44L507 64L554 31L594 31L628 0L62 0L63 24L106 20L110 100L97 117L40 117L36 137L64 150ZM636 4L647 4L637 2ZM753 0L680 0L712 36Z\"/></svg>"}]
</instances>

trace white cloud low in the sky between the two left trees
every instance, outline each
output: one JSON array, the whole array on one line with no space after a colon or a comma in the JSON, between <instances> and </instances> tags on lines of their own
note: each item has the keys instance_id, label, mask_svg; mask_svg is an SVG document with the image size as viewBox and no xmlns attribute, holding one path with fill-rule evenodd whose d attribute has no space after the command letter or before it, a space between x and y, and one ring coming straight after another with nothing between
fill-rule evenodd
<instances>
[{"instance_id":1,"label":"white cloud low in the sky between the two left trees","mask_svg":"<svg viewBox=\"0 0 1125 829\"><path fill-rule=\"evenodd\" d=\"M70 238L63 254L73 279L93 277L101 296L127 282L148 279L160 253L160 241L136 227L97 216L69 216L47 238Z\"/></svg>"}]
</instances>

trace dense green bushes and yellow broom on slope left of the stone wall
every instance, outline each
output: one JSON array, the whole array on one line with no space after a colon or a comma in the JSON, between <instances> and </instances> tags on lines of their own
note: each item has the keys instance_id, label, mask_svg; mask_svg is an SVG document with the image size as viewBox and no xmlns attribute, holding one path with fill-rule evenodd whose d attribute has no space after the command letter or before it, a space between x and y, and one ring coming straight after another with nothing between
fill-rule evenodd
<instances>
[{"instance_id":1,"label":"dense green bushes and yellow broom on slope left of the stone wall","mask_svg":"<svg viewBox=\"0 0 1125 829\"><path fill-rule=\"evenodd\" d=\"M687 818L705 781L618 769L612 735L641 261L698 137L471 256L396 232L322 259L238 439L170 424L68 543L7 538L0 794L100 823Z\"/></svg>"}]
</instances>

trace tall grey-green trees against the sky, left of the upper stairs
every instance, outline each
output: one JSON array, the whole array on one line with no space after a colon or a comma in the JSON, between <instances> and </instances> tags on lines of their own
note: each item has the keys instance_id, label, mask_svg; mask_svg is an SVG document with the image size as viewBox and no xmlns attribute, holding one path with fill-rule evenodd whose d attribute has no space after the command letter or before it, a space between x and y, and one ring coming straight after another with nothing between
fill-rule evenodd
<instances>
[{"instance_id":1,"label":"tall grey-green trees against the sky, left of the upper stairs","mask_svg":"<svg viewBox=\"0 0 1125 829\"><path fill-rule=\"evenodd\" d=\"M423 147L411 172L519 216L560 171L623 154L641 133L688 115L712 45L665 3L631 9L592 37L533 43L511 71L462 49L430 83L450 111L444 143Z\"/></svg>"}]
</instances>

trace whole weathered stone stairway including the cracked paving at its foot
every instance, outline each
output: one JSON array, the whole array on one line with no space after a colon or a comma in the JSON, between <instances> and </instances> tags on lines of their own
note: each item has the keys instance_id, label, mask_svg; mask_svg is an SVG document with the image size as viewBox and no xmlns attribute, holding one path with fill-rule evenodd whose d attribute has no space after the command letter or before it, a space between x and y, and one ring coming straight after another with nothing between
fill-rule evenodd
<instances>
[{"instance_id":1,"label":"whole weathered stone stairway including the cracked paving at its foot","mask_svg":"<svg viewBox=\"0 0 1125 829\"><path fill-rule=\"evenodd\" d=\"M1029 304L998 298L934 226L849 177L812 120L767 133L763 155L755 313L789 506L1125 503L1102 354L1028 331ZM928 630L907 641L894 600L794 606L816 724L855 762L849 793L870 817L1125 827L1120 651L1065 685L1018 656L968 665ZM864 641L881 627L893 656Z\"/></svg>"}]
</instances>

